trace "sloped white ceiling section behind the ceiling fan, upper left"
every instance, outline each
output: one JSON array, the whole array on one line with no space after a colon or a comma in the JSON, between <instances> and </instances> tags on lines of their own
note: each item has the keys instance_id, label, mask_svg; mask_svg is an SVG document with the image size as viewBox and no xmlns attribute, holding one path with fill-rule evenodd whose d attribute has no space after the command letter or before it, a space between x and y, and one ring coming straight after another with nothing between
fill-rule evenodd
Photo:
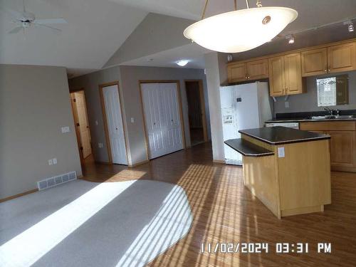
<instances>
[{"instance_id":1,"label":"sloped white ceiling section behind the ceiling fan, upper left","mask_svg":"<svg viewBox=\"0 0 356 267\"><path fill-rule=\"evenodd\" d=\"M27 11L37 18L63 17L61 33L28 28L8 34L14 23L0 14L0 63L66 66L75 74L103 67L147 11L109 0L25 0ZM0 8L22 10L22 0L0 0ZM84 70L88 69L88 70Z\"/></svg>"}]
</instances>

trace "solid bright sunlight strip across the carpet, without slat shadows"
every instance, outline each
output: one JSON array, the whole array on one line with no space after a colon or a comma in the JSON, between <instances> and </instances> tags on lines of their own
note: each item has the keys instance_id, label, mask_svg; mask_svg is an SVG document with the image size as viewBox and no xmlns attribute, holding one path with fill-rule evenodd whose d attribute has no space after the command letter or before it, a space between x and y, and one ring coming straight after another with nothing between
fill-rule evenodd
<instances>
[{"instance_id":1,"label":"solid bright sunlight strip across the carpet, without slat shadows","mask_svg":"<svg viewBox=\"0 0 356 267\"><path fill-rule=\"evenodd\" d=\"M102 183L0 246L0 266L31 266L136 181Z\"/></svg>"}]
</instances>

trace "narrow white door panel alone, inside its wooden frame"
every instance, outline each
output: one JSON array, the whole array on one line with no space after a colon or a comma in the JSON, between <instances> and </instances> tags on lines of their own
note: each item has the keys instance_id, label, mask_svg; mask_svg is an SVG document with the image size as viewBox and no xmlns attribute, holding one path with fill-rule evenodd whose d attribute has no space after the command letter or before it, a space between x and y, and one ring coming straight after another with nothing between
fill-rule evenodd
<instances>
[{"instance_id":1,"label":"narrow white door panel alone, inside its wooden frame","mask_svg":"<svg viewBox=\"0 0 356 267\"><path fill-rule=\"evenodd\" d=\"M125 135L122 125L120 96L117 85L104 87L103 98L105 103L106 120L108 122L112 163L127 164Z\"/></svg>"}]
</instances>

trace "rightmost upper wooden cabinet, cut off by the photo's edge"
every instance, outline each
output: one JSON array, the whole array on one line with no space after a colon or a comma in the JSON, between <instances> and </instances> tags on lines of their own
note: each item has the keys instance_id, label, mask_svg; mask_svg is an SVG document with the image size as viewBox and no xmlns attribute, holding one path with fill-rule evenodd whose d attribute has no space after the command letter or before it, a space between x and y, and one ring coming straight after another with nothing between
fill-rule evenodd
<instances>
[{"instance_id":1,"label":"rightmost upper wooden cabinet, cut off by the photo's edge","mask_svg":"<svg viewBox=\"0 0 356 267\"><path fill-rule=\"evenodd\" d=\"M356 70L356 42L328 46L328 72Z\"/></svg>"}]
</instances>

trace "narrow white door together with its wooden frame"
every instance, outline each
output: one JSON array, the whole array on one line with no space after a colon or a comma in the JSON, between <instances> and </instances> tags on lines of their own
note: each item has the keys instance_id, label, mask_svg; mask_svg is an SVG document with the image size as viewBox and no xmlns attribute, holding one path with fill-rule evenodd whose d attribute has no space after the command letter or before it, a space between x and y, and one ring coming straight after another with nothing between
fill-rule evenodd
<instances>
[{"instance_id":1,"label":"narrow white door together with its wooden frame","mask_svg":"<svg viewBox=\"0 0 356 267\"><path fill-rule=\"evenodd\" d=\"M119 83L99 85L109 163L127 165L127 147Z\"/></svg>"}]
</instances>

